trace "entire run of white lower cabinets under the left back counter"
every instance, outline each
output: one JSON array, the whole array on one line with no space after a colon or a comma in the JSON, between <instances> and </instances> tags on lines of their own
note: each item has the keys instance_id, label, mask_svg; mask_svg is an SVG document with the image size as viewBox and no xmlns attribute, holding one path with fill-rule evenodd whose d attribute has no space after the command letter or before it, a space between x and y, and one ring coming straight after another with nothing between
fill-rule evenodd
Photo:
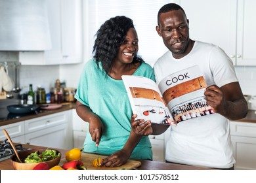
<instances>
[{"instance_id":1,"label":"entire run of white lower cabinets under the left back counter","mask_svg":"<svg viewBox=\"0 0 256 183\"><path fill-rule=\"evenodd\" d=\"M6 129L12 142L69 150L73 148L72 110L57 112L14 124L0 126L0 141L7 139Z\"/></svg>"}]
</instances>

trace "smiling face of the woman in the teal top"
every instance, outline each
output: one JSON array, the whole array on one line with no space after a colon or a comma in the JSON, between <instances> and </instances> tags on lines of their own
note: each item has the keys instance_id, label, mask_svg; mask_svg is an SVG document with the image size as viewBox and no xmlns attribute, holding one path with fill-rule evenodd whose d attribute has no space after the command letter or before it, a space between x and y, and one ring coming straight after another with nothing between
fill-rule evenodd
<instances>
[{"instance_id":1,"label":"smiling face of the woman in the teal top","mask_svg":"<svg viewBox=\"0 0 256 183\"><path fill-rule=\"evenodd\" d=\"M139 50L138 42L139 39L135 29L129 29L129 31L127 31L125 40L119 47L115 61L119 61L121 63L131 63Z\"/></svg>"}]
</instances>

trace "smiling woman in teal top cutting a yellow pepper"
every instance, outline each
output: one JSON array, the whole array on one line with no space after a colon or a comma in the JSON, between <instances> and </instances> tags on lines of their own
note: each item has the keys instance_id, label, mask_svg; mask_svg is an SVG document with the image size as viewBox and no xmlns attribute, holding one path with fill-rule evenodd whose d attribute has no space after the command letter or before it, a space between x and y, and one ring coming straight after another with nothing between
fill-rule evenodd
<instances>
[{"instance_id":1,"label":"smiling woman in teal top cutting a yellow pepper","mask_svg":"<svg viewBox=\"0 0 256 183\"><path fill-rule=\"evenodd\" d=\"M84 152L105 154L101 165L117 167L129 158L152 159L148 137L131 130L132 110L122 75L154 80L150 65L137 55L138 37L133 21L110 18L96 33L93 59L89 60L77 88L77 114L89 122Z\"/></svg>"}]
</instances>

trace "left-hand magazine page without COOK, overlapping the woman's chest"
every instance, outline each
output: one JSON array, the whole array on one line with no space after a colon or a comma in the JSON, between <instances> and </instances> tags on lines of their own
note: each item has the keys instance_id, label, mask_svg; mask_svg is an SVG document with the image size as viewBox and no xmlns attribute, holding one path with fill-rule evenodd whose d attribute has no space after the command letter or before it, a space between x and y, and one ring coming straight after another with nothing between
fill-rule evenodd
<instances>
[{"instance_id":1,"label":"left-hand magazine page without COOK, overlapping the woman's chest","mask_svg":"<svg viewBox=\"0 0 256 183\"><path fill-rule=\"evenodd\" d=\"M157 84L143 76L122 76L133 114L156 124L171 124L173 119Z\"/></svg>"}]
</instances>

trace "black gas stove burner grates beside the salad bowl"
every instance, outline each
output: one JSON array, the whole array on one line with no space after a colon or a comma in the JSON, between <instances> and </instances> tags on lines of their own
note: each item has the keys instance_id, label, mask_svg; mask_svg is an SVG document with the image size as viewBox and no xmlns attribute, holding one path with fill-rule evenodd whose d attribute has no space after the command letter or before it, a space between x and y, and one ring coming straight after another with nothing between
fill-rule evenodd
<instances>
[{"instance_id":1,"label":"black gas stove burner grates beside the salad bowl","mask_svg":"<svg viewBox=\"0 0 256 183\"><path fill-rule=\"evenodd\" d=\"M14 153L14 150L10 144L10 142L7 142L8 140L5 139L5 141L0 143L0 161L4 161L5 159L9 159L12 154ZM15 145L16 151L24 151L27 150L28 148L23 148L22 144L17 144Z\"/></svg>"}]
</instances>

